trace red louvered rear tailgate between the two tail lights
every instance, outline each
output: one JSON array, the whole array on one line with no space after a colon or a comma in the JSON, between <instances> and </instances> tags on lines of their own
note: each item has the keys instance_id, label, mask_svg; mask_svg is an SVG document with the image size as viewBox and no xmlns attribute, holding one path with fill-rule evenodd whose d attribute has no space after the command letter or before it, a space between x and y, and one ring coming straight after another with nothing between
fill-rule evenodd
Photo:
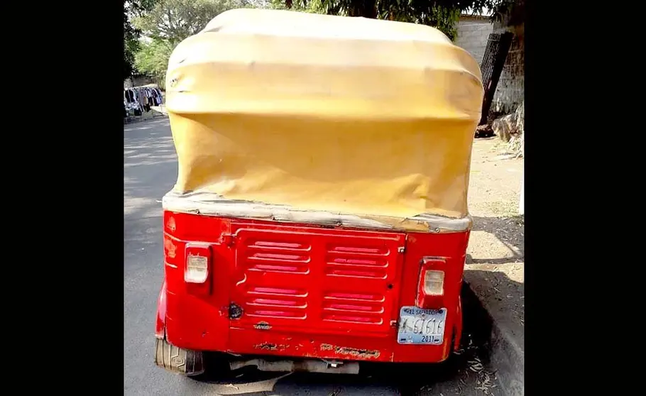
<instances>
[{"instance_id":1,"label":"red louvered rear tailgate between the two tail lights","mask_svg":"<svg viewBox=\"0 0 646 396\"><path fill-rule=\"evenodd\" d=\"M387 336L405 234L231 222L231 327Z\"/></svg>"}]
</instances>

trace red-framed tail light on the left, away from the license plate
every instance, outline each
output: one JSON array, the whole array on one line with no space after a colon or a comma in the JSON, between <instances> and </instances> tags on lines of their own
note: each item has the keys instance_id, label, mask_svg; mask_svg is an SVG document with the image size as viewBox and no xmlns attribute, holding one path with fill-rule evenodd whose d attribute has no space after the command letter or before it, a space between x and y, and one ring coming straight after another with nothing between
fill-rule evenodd
<instances>
[{"instance_id":1,"label":"red-framed tail light on the left, away from the license plate","mask_svg":"<svg viewBox=\"0 0 646 396\"><path fill-rule=\"evenodd\" d=\"M185 248L184 281L190 292L204 294L211 292L213 258L211 245L190 242Z\"/></svg>"}]
</instances>

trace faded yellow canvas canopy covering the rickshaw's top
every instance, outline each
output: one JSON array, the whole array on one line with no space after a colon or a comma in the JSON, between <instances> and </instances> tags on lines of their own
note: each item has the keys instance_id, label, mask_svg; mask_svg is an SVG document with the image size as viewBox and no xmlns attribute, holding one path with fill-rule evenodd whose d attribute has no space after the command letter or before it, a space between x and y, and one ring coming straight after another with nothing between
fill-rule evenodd
<instances>
[{"instance_id":1,"label":"faded yellow canvas canopy covering the rickshaw's top","mask_svg":"<svg viewBox=\"0 0 646 396\"><path fill-rule=\"evenodd\" d=\"M168 209L468 217L481 73L437 29L226 11L175 48L166 79L179 163Z\"/></svg>"}]
</instances>

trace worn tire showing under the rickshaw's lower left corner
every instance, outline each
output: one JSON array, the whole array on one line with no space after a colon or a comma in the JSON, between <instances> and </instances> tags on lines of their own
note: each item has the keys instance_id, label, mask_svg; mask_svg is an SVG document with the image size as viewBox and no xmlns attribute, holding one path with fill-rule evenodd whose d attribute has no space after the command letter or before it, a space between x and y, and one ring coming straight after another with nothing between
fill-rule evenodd
<instances>
[{"instance_id":1,"label":"worn tire showing under the rickshaw's lower left corner","mask_svg":"<svg viewBox=\"0 0 646 396\"><path fill-rule=\"evenodd\" d=\"M187 376L204 373L204 353L190 349L177 348L166 339L156 339L155 364Z\"/></svg>"}]
</instances>

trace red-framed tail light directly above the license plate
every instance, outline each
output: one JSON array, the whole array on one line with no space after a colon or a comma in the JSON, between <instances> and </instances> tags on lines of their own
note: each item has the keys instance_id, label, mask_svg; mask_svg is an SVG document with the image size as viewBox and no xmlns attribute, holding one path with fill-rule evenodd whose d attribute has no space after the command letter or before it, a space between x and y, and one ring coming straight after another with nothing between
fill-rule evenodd
<instances>
[{"instance_id":1,"label":"red-framed tail light directly above the license plate","mask_svg":"<svg viewBox=\"0 0 646 396\"><path fill-rule=\"evenodd\" d=\"M417 284L417 307L423 309L442 308L446 266L447 261L444 258L422 258L420 280Z\"/></svg>"}]
</instances>

